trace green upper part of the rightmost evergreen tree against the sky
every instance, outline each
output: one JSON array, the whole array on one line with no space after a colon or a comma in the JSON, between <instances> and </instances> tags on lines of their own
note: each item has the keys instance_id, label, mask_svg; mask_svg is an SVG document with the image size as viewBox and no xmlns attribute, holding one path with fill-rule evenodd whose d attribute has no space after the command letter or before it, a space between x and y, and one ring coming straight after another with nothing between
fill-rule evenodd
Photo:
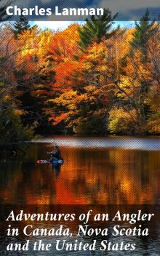
<instances>
[{"instance_id":1,"label":"green upper part of the rightmost evergreen tree against the sky","mask_svg":"<svg viewBox=\"0 0 160 256\"><path fill-rule=\"evenodd\" d=\"M159 24L155 23L155 20L151 21L149 17L149 11L146 9L145 15L140 19L140 22L135 22L135 31L132 33L133 39L131 44L131 55L134 49L139 49L141 52L141 59L143 62L148 58L148 41L153 36L153 33L157 31Z\"/></svg>"}]
</instances>

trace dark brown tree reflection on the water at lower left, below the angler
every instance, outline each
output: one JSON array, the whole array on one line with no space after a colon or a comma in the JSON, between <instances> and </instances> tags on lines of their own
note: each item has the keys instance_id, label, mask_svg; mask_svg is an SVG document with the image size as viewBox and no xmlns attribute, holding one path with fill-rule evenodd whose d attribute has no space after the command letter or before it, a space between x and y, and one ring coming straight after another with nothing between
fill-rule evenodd
<instances>
[{"instance_id":1,"label":"dark brown tree reflection on the water at lower left, below the angler","mask_svg":"<svg viewBox=\"0 0 160 256\"><path fill-rule=\"evenodd\" d=\"M23 163L7 170L8 181L1 198L12 204L52 204L55 197L55 175L46 169L35 168L35 164Z\"/></svg>"}]
</instances>

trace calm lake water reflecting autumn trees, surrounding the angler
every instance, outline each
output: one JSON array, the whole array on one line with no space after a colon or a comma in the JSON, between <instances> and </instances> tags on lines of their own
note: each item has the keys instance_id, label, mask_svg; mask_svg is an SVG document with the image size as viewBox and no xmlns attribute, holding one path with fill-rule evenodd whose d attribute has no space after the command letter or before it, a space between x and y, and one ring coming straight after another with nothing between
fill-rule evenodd
<instances>
[{"instance_id":1,"label":"calm lake water reflecting autumn trees, surrounding the angler","mask_svg":"<svg viewBox=\"0 0 160 256\"><path fill-rule=\"evenodd\" d=\"M36 164L37 159L48 159L47 151L52 151L52 143L55 142L60 145L64 164L59 167ZM26 149L26 155L20 159L10 158L0 162L1 204L76 204L77 211L80 210L79 204L95 204L97 207L100 204L130 204L133 209L135 204L155 204L159 208L159 149L159 137L43 138L32 143ZM140 207L143 209L142 205ZM159 220L150 225L150 238L142 240L135 237L137 251L129 252L128 255L159 255ZM9 255L4 249L9 238L1 235L0 239L0 255ZM82 240L85 239L88 241L89 238ZM55 249L49 253L23 252L23 255L92 254L57 253ZM116 252L116 255L124 254ZM19 254L14 252L14 255ZM115 255L115 252L94 252L94 255Z\"/></svg>"}]
</instances>

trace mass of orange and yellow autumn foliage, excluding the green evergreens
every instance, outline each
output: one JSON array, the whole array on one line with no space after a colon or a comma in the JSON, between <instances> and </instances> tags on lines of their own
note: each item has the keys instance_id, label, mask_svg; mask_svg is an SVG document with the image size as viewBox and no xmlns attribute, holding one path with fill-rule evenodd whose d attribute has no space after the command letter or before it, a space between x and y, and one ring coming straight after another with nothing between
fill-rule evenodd
<instances>
[{"instance_id":1,"label":"mass of orange and yellow autumn foliage, excluding the green evergreens","mask_svg":"<svg viewBox=\"0 0 160 256\"><path fill-rule=\"evenodd\" d=\"M134 125L138 132L158 131L159 96L155 95L159 95L160 30L148 41L148 61L144 62L140 49L131 56L129 42L135 28L119 31L99 44L93 42L85 52L79 49L78 28L73 24L53 33L33 27L15 40L12 25L4 25L0 85L8 82L12 90L3 100L14 102L23 92L13 88L25 83L32 97L45 98L43 111L53 125L63 121L72 127L79 121L88 124L91 116L96 116L95 121L104 116L110 132L126 132Z\"/></svg>"}]
</instances>

